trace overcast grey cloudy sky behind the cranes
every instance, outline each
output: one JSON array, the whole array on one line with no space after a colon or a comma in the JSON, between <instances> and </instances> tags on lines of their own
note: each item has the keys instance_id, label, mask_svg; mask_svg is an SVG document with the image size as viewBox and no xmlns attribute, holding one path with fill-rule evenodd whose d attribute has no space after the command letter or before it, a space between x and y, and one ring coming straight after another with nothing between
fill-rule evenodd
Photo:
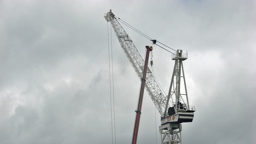
<instances>
[{"instance_id":1,"label":"overcast grey cloudy sky behind the cranes","mask_svg":"<svg viewBox=\"0 0 256 144\"><path fill-rule=\"evenodd\" d=\"M149 37L187 50L196 112L182 124L182 143L255 142L255 1L1 0L2 144L112 143L110 23L103 17L110 9ZM124 29L144 57L151 41ZM116 143L131 143L140 80L113 30L112 48ZM157 46L153 54L167 92L174 61ZM145 92L138 143L160 144L159 126Z\"/></svg>"}]
</instances>

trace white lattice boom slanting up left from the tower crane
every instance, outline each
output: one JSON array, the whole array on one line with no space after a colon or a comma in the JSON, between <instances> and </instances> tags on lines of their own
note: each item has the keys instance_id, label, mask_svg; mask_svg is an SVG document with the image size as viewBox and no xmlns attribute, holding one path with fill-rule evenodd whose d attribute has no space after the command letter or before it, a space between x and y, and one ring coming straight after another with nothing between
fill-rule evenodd
<instances>
[{"instance_id":1,"label":"white lattice boom slanting up left from the tower crane","mask_svg":"<svg viewBox=\"0 0 256 144\"><path fill-rule=\"evenodd\" d=\"M134 68L138 77L141 79L145 61L140 56L132 40L130 39L128 34L124 31L124 29L122 28L118 20L115 18L115 15L111 12L111 10L110 12L105 14L104 17L107 21L110 21L111 26L113 27L116 33L118 41L120 42L120 45L124 50L124 53L126 54L127 58L132 64L132 67ZM150 69L150 67L148 67L147 69L145 88L150 98L152 99L155 107L157 108L158 112L163 117L164 115L162 110L165 110L166 103L167 103L167 96L165 96L162 88L157 83L154 75L152 74L152 70Z\"/></svg>"}]
</instances>

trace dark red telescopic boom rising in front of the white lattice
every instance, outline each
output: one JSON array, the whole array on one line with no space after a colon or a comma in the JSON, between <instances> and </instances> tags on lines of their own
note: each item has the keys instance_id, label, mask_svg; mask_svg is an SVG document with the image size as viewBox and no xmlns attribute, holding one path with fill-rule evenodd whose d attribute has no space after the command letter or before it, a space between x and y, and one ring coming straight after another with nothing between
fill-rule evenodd
<instances>
[{"instance_id":1,"label":"dark red telescopic boom rising in front of the white lattice","mask_svg":"<svg viewBox=\"0 0 256 144\"><path fill-rule=\"evenodd\" d=\"M144 88L146 84L146 74L148 69L148 57L149 52L153 49L152 47L146 46L146 58L145 58L145 64L143 69L143 75L141 79L141 86L140 86L140 96L139 96L139 102L138 102L138 108L135 110L136 116L135 116L135 124L132 134L132 144L137 143L137 136L138 136L138 130L139 130L139 124L140 124L140 114L141 114L141 107L142 107L142 100L143 100L143 94L144 94Z\"/></svg>"}]
</instances>

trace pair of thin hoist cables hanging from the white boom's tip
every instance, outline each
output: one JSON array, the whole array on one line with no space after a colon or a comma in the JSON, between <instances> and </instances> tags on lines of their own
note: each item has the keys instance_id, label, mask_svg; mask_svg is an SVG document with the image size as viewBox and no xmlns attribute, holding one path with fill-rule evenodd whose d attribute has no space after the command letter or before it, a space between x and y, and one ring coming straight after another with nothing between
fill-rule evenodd
<instances>
[{"instance_id":1,"label":"pair of thin hoist cables hanging from the white boom's tip","mask_svg":"<svg viewBox=\"0 0 256 144\"><path fill-rule=\"evenodd\" d=\"M109 26L108 26L109 27ZM111 31L111 29L110 29ZM111 34L111 62L112 62L112 84L114 82L113 80L113 56L112 56L112 34ZM112 144L113 144L113 115L114 115L114 137L115 137L115 143L116 143L116 126L115 126L115 103L114 103L114 84L112 85L113 89L113 110L112 110L112 97L111 97L111 71L110 71L110 48L109 48L109 29L108 29L108 65L109 65L109 84L110 84L110 110L111 110L111 134L112 134ZM114 113L112 115L112 112Z\"/></svg>"}]
</instances>

